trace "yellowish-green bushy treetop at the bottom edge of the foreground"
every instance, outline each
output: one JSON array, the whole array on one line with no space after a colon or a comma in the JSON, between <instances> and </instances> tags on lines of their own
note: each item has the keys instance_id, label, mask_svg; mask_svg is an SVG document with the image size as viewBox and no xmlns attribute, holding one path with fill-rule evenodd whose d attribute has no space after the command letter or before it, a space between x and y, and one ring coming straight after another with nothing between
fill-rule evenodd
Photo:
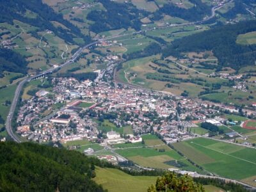
<instances>
[{"instance_id":1,"label":"yellowish-green bushy treetop at the bottom edge of the foreground","mask_svg":"<svg viewBox=\"0 0 256 192\"><path fill-rule=\"evenodd\" d=\"M201 184L193 181L192 177L182 175L178 177L176 173L167 172L156 180L156 186L150 186L148 192L155 191L205 191Z\"/></svg>"}]
</instances>

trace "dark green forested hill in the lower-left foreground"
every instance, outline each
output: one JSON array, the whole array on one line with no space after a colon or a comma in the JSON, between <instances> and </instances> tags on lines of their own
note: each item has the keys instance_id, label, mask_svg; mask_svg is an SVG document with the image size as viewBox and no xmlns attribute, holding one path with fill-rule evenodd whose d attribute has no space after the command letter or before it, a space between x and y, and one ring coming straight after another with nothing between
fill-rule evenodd
<instances>
[{"instance_id":1,"label":"dark green forested hill in the lower-left foreground","mask_svg":"<svg viewBox=\"0 0 256 192\"><path fill-rule=\"evenodd\" d=\"M95 158L33 143L0 143L0 191L104 191L93 182Z\"/></svg>"}]
</instances>

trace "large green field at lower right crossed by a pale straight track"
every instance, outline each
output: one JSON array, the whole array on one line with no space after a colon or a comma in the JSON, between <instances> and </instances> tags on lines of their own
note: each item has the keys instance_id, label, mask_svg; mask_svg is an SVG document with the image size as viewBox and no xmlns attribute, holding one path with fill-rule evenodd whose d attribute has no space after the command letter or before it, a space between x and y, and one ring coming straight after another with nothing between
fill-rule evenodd
<instances>
[{"instance_id":1,"label":"large green field at lower right crossed by a pale straight track","mask_svg":"<svg viewBox=\"0 0 256 192\"><path fill-rule=\"evenodd\" d=\"M207 138L174 143L173 146L205 170L217 175L238 180L256 175L255 149Z\"/></svg>"}]
</instances>

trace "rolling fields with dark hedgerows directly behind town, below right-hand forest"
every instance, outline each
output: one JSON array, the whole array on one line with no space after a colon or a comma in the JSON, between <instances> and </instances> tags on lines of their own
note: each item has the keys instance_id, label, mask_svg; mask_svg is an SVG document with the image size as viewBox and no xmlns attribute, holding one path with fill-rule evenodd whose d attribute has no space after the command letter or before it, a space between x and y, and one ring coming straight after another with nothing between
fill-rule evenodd
<instances>
[{"instance_id":1,"label":"rolling fields with dark hedgerows directly behind town, below right-hand forest","mask_svg":"<svg viewBox=\"0 0 256 192\"><path fill-rule=\"evenodd\" d=\"M170 60L159 60L159 55L125 62L116 77L125 83L171 92L175 95L180 95L186 90L190 97L197 97L198 93L204 91L205 85L211 88L212 84L226 82L225 79L207 77L205 74L199 74L193 68L186 68ZM211 97L211 95L202 97ZM235 96L237 97L237 94ZM242 96L240 95L240 97ZM221 99L223 98L221 97Z\"/></svg>"}]
</instances>

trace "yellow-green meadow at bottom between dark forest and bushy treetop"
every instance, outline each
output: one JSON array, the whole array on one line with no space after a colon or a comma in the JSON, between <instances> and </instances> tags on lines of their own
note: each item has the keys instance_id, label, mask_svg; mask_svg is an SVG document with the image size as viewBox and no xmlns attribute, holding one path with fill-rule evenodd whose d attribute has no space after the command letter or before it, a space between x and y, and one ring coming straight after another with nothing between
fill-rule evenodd
<instances>
[{"instance_id":1,"label":"yellow-green meadow at bottom between dark forest and bushy treetop","mask_svg":"<svg viewBox=\"0 0 256 192\"><path fill-rule=\"evenodd\" d=\"M93 179L109 192L147 191L148 186L156 183L157 177L131 176L117 169L96 168L96 177Z\"/></svg>"}]
</instances>

